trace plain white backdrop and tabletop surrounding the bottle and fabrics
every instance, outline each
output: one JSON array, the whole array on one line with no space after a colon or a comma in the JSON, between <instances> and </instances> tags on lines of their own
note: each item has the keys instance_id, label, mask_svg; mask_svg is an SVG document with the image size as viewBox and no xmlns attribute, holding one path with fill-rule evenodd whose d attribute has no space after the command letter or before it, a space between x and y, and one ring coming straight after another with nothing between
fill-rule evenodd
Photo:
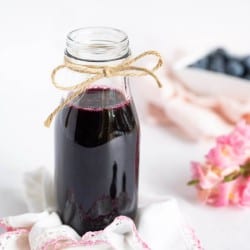
<instances>
[{"instance_id":1,"label":"plain white backdrop and tabletop surrounding the bottle and fabrics","mask_svg":"<svg viewBox=\"0 0 250 250\"><path fill-rule=\"evenodd\" d=\"M70 30L120 28L134 53L156 49L168 55L176 48L224 45L250 54L249 11L247 0L1 0L0 216L26 210L19 190L22 172L40 165L53 169L53 129L45 129L43 120L59 102L50 72L62 62ZM247 208L200 205L185 186L189 161L200 159L207 148L142 124L140 193L152 200L175 196L205 249L250 249Z\"/></svg>"}]
</instances>

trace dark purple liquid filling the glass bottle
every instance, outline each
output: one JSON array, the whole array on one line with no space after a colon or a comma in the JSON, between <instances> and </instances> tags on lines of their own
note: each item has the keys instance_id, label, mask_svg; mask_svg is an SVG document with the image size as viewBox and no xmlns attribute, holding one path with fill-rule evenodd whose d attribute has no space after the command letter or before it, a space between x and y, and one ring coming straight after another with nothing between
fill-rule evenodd
<instances>
[{"instance_id":1,"label":"dark purple liquid filling the glass bottle","mask_svg":"<svg viewBox=\"0 0 250 250\"><path fill-rule=\"evenodd\" d=\"M57 209L79 234L137 209L139 124L133 102L114 89L89 89L55 127Z\"/></svg>"}]
</instances>

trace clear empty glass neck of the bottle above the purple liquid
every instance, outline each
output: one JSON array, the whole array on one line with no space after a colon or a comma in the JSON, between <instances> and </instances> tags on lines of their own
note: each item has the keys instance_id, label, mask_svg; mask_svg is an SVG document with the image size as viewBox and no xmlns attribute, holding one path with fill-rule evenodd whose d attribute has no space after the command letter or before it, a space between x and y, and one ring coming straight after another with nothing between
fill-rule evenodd
<instances>
[{"instance_id":1,"label":"clear empty glass neck of the bottle above the purple liquid","mask_svg":"<svg viewBox=\"0 0 250 250\"><path fill-rule=\"evenodd\" d=\"M65 56L75 64L115 65L130 55L127 35L117 29L90 27L73 30L67 36ZM78 82L81 82L81 74ZM102 78L88 89L110 89L131 98L128 77Z\"/></svg>"}]
</instances>

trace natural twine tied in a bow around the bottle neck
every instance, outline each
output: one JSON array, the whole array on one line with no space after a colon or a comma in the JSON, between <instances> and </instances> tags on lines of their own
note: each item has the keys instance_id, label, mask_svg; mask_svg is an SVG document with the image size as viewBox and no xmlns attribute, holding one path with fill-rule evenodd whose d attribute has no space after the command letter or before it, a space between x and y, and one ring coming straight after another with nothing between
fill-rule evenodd
<instances>
[{"instance_id":1,"label":"natural twine tied in a bow around the bottle neck","mask_svg":"<svg viewBox=\"0 0 250 250\"><path fill-rule=\"evenodd\" d=\"M157 59L156 65L152 69L147 69L145 67L137 67L133 66L135 62L138 62L141 58L145 58L146 56L154 56ZM154 71L159 69L163 64L163 60L161 55L157 51L146 51L137 57L134 58L128 58L125 59L120 64L117 64L115 66L99 66L99 65L81 65L76 64L71 61L67 57L64 57L64 64L59 65L56 67L51 74L52 84L60 90L68 90L71 91L72 94L70 94L59 106L57 106L54 111L48 116L48 118L45 120L44 125L46 127L50 127L50 124L55 117L55 115L62 110L67 104L69 104L72 100L74 100L77 96L82 94L86 88L92 84L93 82L96 82L102 78L105 77L114 77L114 76L145 76L150 75L154 78L154 80L157 82L159 87L162 87L162 84L159 80L159 78L154 74ZM72 85L72 86L62 86L60 83L57 83L55 80L56 74L58 71L60 71L63 68L68 68L72 71L82 73L82 74L91 74L93 76L90 76L88 79Z\"/></svg>"}]
</instances>

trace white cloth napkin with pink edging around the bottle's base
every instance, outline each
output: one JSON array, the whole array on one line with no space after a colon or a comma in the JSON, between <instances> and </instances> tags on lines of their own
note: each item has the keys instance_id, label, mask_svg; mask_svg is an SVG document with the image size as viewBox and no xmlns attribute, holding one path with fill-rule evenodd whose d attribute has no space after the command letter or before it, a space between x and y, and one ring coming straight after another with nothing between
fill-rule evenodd
<instances>
[{"instance_id":1,"label":"white cloth napkin with pink edging around the bottle's base","mask_svg":"<svg viewBox=\"0 0 250 250\"><path fill-rule=\"evenodd\" d=\"M103 231L82 237L63 225L55 212L51 175L39 168L25 175L25 195L30 213L0 220L6 232L0 235L3 250L200 250L200 241L184 222L174 199L138 210L134 222L117 217Z\"/></svg>"}]
</instances>

